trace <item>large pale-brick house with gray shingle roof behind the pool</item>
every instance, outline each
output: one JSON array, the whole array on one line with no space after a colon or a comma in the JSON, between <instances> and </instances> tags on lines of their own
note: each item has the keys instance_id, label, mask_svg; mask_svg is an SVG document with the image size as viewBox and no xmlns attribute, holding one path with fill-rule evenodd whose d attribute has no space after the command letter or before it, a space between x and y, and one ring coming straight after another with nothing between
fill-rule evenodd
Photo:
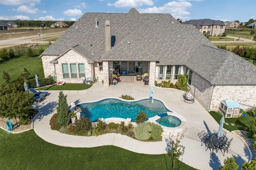
<instances>
[{"instance_id":1,"label":"large pale-brick house with gray shingle roof behind the pool","mask_svg":"<svg viewBox=\"0 0 256 170\"><path fill-rule=\"evenodd\" d=\"M218 111L222 100L238 101L242 109L256 103L256 67L171 14L140 14L134 8L85 13L40 57L45 77L56 81L82 83L81 77L98 77L107 87L110 70L116 69L133 76L147 72L148 85L154 85L175 83L185 74L206 110Z\"/></svg>"}]
</instances>

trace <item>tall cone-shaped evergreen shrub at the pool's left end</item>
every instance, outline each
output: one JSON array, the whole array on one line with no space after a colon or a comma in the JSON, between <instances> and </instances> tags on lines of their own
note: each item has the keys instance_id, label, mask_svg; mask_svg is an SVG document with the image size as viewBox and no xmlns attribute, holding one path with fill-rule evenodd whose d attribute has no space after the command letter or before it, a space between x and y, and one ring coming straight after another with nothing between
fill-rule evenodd
<instances>
[{"instance_id":1,"label":"tall cone-shaped evergreen shrub at the pool's left end","mask_svg":"<svg viewBox=\"0 0 256 170\"><path fill-rule=\"evenodd\" d=\"M59 93L59 101L57 109L58 114L58 122L61 125L68 125L70 123L70 117L68 115L68 103L67 103L67 95L63 94L63 91Z\"/></svg>"}]
</instances>

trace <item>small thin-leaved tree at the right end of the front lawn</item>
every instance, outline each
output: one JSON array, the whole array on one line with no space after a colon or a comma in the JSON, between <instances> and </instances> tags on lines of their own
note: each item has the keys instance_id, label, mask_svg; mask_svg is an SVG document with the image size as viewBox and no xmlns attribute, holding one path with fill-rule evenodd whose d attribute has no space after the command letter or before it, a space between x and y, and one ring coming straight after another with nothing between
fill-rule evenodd
<instances>
[{"instance_id":1,"label":"small thin-leaved tree at the right end of the front lawn","mask_svg":"<svg viewBox=\"0 0 256 170\"><path fill-rule=\"evenodd\" d=\"M175 160L178 161L180 156L182 156L185 152L185 146L180 144L180 140L182 140L183 137L184 137L183 134L180 135L180 138L178 138L177 136L175 141L169 138L171 150L168 152L168 156L170 156L172 159L173 169L175 168Z\"/></svg>"}]
</instances>

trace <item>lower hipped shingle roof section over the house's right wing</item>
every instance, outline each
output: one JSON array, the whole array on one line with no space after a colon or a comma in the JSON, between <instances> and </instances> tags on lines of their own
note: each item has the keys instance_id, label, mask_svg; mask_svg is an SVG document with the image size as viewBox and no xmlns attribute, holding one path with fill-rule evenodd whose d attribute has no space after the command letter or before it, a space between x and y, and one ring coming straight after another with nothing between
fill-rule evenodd
<instances>
[{"instance_id":1,"label":"lower hipped shingle roof section over the house's right wing","mask_svg":"<svg viewBox=\"0 0 256 170\"><path fill-rule=\"evenodd\" d=\"M212 84L256 84L256 67L223 49L200 45L185 65Z\"/></svg>"}]
</instances>

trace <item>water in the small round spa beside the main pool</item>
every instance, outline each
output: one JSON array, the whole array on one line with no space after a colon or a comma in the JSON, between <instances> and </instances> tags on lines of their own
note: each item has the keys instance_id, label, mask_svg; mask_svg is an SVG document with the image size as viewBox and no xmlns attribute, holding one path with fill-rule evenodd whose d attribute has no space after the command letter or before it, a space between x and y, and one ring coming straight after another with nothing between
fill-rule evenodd
<instances>
[{"instance_id":1,"label":"water in the small round spa beside the main pool","mask_svg":"<svg viewBox=\"0 0 256 170\"><path fill-rule=\"evenodd\" d=\"M172 115L163 116L156 122L165 127L178 127L181 124L180 119Z\"/></svg>"}]
</instances>

